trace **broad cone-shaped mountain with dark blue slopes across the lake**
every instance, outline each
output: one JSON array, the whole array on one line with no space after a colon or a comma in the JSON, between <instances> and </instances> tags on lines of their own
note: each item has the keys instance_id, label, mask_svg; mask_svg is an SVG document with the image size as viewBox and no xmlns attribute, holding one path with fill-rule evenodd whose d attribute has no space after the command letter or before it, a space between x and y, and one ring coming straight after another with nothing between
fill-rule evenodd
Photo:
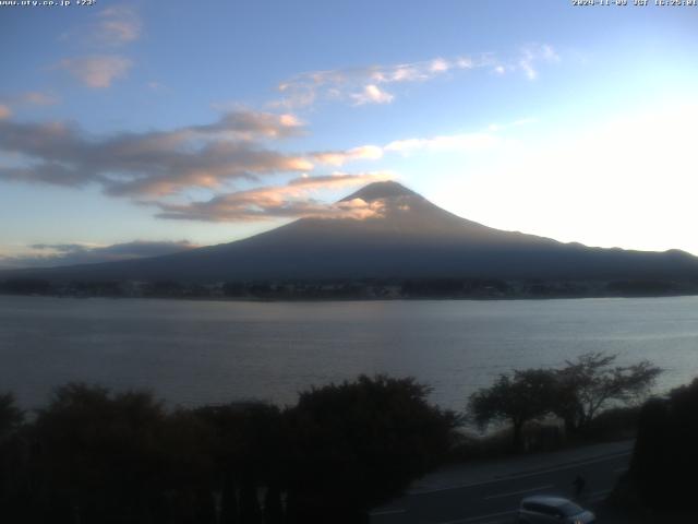
<instances>
[{"instance_id":1,"label":"broad cone-shaped mountain with dark blue slopes across the lake","mask_svg":"<svg viewBox=\"0 0 698 524\"><path fill-rule=\"evenodd\" d=\"M693 278L682 251L588 248L502 231L460 218L396 182L344 199L378 210L371 218L302 218L231 243L182 253L12 276L182 282L364 277ZM5 276L8 276L5 274Z\"/></svg>"}]
</instances>

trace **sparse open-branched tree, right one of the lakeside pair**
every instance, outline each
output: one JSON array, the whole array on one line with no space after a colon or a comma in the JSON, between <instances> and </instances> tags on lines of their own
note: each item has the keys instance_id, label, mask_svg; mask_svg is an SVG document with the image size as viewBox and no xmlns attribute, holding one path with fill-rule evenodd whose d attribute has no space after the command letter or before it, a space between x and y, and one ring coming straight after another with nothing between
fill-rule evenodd
<instances>
[{"instance_id":1,"label":"sparse open-branched tree, right one of the lakeside pair","mask_svg":"<svg viewBox=\"0 0 698 524\"><path fill-rule=\"evenodd\" d=\"M614 366L617 355L586 353L556 371L552 412L571 433L586 430L612 404L641 400L662 372L648 360L633 366Z\"/></svg>"}]
</instances>

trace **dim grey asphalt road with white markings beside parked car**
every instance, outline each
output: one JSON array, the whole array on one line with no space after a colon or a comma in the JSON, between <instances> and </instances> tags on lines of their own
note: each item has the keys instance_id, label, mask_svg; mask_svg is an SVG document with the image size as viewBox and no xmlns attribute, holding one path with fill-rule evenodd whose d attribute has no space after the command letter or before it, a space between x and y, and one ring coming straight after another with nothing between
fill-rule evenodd
<instances>
[{"instance_id":1,"label":"dim grey asphalt road with white markings beside parked car","mask_svg":"<svg viewBox=\"0 0 698 524\"><path fill-rule=\"evenodd\" d=\"M407 495L371 514L372 524L495 524L516 522L524 497L559 495L574 498L573 480L581 474L587 485L581 505L598 502L613 489L628 467L630 452L510 476L486 483L442 487Z\"/></svg>"}]
</instances>

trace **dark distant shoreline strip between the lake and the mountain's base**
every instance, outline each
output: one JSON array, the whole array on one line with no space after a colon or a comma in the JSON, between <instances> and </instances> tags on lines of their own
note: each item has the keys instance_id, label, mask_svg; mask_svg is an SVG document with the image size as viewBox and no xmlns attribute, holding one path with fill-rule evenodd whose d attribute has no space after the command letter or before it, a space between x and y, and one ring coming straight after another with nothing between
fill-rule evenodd
<instances>
[{"instance_id":1,"label":"dark distant shoreline strip between the lake and the mountain's base","mask_svg":"<svg viewBox=\"0 0 698 524\"><path fill-rule=\"evenodd\" d=\"M328 281L230 281L184 283L172 279L0 281L0 293L73 297L230 298L262 300L362 300L395 298L575 298L698 294L698 282L574 281L501 278L357 278Z\"/></svg>"}]
</instances>

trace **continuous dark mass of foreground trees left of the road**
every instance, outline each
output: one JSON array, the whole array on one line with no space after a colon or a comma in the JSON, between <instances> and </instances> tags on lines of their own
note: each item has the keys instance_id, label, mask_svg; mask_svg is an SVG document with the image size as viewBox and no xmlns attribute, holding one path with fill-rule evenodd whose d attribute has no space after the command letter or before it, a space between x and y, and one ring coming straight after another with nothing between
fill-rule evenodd
<instances>
[{"instance_id":1,"label":"continuous dark mass of foreground trees left of the road","mask_svg":"<svg viewBox=\"0 0 698 524\"><path fill-rule=\"evenodd\" d=\"M313 388L284 409L167 409L147 392L59 388L34 416L0 395L0 519L109 524L368 522L440 464L457 417L413 379Z\"/></svg>"}]
</instances>

